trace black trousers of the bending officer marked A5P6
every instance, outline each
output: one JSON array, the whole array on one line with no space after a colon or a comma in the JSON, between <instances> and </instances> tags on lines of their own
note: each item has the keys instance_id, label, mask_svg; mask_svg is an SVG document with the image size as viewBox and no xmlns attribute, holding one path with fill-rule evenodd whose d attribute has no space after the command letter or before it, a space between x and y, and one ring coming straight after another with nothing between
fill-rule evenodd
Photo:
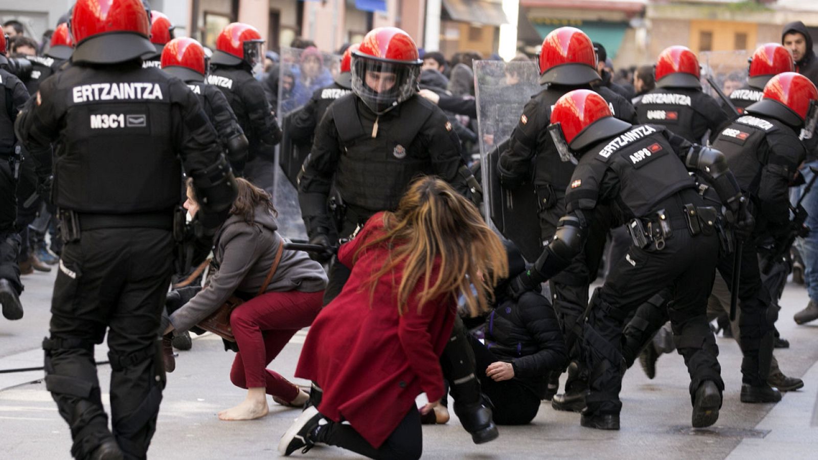
<instances>
[{"instance_id":1,"label":"black trousers of the bending officer marked A5P6","mask_svg":"<svg viewBox=\"0 0 818 460\"><path fill-rule=\"evenodd\" d=\"M625 259L613 267L599 295L592 300L595 305L584 328L591 368L587 413L621 411L622 322L627 313L665 287L672 290L669 315L676 349L690 373L691 402L703 381L713 381L719 390L724 389L718 347L706 316L718 250L715 234L692 237L686 228L674 228L663 250L631 246Z\"/></svg>"}]
</instances>

